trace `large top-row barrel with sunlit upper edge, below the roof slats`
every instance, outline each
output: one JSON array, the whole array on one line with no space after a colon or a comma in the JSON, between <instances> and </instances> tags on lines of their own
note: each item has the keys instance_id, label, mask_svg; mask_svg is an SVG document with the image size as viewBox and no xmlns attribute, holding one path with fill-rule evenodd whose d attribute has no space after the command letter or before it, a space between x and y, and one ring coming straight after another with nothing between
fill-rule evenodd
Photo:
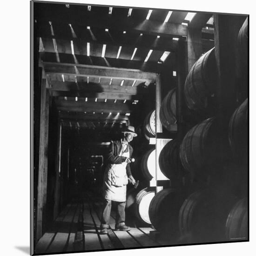
<instances>
[{"instance_id":1,"label":"large top-row barrel with sunlit upper edge, below the roof slats","mask_svg":"<svg viewBox=\"0 0 256 256\"><path fill-rule=\"evenodd\" d=\"M184 86L189 109L200 111L208 107L210 96L216 92L217 66L215 48L203 54L190 69Z\"/></svg>"}]
</instances>

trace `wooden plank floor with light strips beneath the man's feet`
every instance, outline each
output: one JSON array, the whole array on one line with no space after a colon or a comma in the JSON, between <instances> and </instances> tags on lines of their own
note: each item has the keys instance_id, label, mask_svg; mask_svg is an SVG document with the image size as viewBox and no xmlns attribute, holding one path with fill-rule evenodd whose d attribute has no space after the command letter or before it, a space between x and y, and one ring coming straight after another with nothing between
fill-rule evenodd
<instances>
[{"instance_id":1,"label":"wooden plank floor with light strips beneath the man's feet","mask_svg":"<svg viewBox=\"0 0 256 256\"><path fill-rule=\"evenodd\" d=\"M108 235L100 234L102 204L90 197L83 202L69 203L51 227L38 241L36 254L71 251L97 251L161 246L149 232L151 228L134 228L130 231L115 231L115 213L110 216Z\"/></svg>"}]
</instances>

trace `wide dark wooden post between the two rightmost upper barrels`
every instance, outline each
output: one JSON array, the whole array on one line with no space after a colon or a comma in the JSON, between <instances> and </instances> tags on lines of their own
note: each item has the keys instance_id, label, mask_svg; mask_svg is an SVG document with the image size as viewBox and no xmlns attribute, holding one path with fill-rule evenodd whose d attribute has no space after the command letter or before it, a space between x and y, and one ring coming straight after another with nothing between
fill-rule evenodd
<instances>
[{"instance_id":1,"label":"wide dark wooden post between the two rightmost upper barrels","mask_svg":"<svg viewBox=\"0 0 256 256\"><path fill-rule=\"evenodd\" d=\"M223 121L229 119L236 108L236 41L245 18L214 14L215 56L219 77L216 99L218 115Z\"/></svg>"}]
</instances>

